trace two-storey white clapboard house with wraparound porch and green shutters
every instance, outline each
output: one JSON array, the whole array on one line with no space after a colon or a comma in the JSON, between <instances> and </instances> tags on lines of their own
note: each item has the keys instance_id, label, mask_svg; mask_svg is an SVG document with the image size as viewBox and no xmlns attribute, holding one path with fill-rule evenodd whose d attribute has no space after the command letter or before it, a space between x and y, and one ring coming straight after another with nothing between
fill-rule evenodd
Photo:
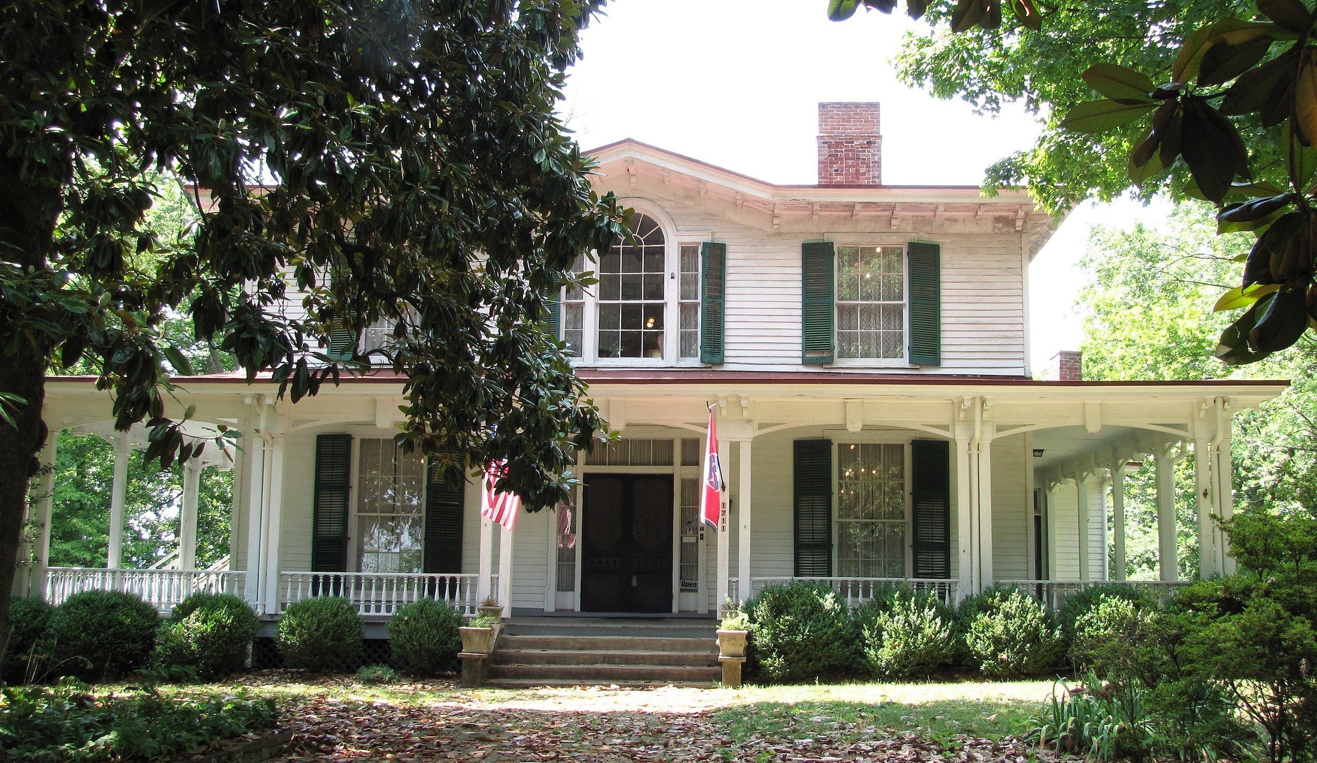
<instances>
[{"instance_id":1,"label":"two-storey white clapboard house with wraparound porch and green shutters","mask_svg":"<svg viewBox=\"0 0 1317 763\"><path fill-rule=\"evenodd\" d=\"M1163 575L1142 584L1167 591L1171 470L1191 450L1201 574L1230 571L1210 521L1231 514L1230 417L1284 383L1084 382L1073 353L1031 378L1030 291L1048 284L1029 264L1055 221L1025 193L886 185L881 146L877 104L827 103L811 185L630 139L593 153L598 191L635 208L641 245L581 262L599 283L562 293L554 328L622 439L579 459L570 504L523 512L515 533L482 522L474 479L450 491L398 453L402 380L387 372L296 404L267 380L194 376L178 396L194 433L244 435L232 460L192 470L236 472L227 568L192 568L195 476L176 568L122 570L119 543L107 570L50 568L47 483L20 585L55 601L125 588L162 609L227 589L270 618L321 592L367 617L486 595L515 614L698 616L792 579L851 603L890 580L1055 599L1123 576L1122 470L1151 458ZM697 521L710 405L728 488L718 531ZM109 418L91 379L49 380L51 430L116 443L121 529L124 464L144 439Z\"/></svg>"}]
</instances>

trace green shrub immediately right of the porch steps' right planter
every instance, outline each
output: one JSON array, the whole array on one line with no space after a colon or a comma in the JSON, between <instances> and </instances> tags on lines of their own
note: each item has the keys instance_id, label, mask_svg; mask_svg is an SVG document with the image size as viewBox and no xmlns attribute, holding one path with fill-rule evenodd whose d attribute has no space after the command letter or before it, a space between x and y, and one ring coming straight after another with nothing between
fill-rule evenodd
<instances>
[{"instance_id":1,"label":"green shrub immediately right of the porch steps' right planter","mask_svg":"<svg viewBox=\"0 0 1317 763\"><path fill-rule=\"evenodd\" d=\"M745 603L752 670L773 680L818 677L848 668L855 629L846 604L827 585L768 585Z\"/></svg>"}]
</instances>

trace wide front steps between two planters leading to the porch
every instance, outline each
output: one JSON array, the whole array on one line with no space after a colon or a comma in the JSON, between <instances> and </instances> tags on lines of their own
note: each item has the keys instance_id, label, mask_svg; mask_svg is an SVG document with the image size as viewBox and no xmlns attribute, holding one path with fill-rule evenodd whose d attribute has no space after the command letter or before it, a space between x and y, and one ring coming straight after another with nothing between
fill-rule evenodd
<instances>
[{"instance_id":1,"label":"wide front steps between two planters leading to the porch","mask_svg":"<svg viewBox=\"0 0 1317 763\"><path fill-rule=\"evenodd\" d=\"M712 620L512 618L490 658L489 685L714 687Z\"/></svg>"}]
</instances>

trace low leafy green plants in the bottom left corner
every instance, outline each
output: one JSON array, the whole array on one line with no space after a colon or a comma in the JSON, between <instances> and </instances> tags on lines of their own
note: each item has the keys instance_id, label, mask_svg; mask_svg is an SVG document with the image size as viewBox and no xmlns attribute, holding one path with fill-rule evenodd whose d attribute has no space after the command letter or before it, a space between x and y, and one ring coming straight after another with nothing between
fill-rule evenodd
<instances>
[{"instance_id":1,"label":"low leafy green plants in the bottom left corner","mask_svg":"<svg viewBox=\"0 0 1317 763\"><path fill-rule=\"evenodd\" d=\"M96 697L66 679L54 688L7 687L0 756L25 763L101 763L179 758L212 739L274 726L274 700L246 696Z\"/></svg>"}]
</instances>

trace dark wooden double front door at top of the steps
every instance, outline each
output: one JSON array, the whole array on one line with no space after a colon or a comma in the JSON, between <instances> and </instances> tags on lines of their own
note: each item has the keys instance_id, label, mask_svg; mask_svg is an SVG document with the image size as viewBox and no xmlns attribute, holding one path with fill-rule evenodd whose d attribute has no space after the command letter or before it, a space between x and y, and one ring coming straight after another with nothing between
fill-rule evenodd
<instances>
[{"instance_id":1,"label":"dark wooden double front door at top of the steps","mask_svg":"<svg viewBox=\"0 0 1317 763\"><path fill-rule=\"evenodd\" d=\"M672 478L585 475L581 609L672 612Z\"/></svg>"}]
</instances>

